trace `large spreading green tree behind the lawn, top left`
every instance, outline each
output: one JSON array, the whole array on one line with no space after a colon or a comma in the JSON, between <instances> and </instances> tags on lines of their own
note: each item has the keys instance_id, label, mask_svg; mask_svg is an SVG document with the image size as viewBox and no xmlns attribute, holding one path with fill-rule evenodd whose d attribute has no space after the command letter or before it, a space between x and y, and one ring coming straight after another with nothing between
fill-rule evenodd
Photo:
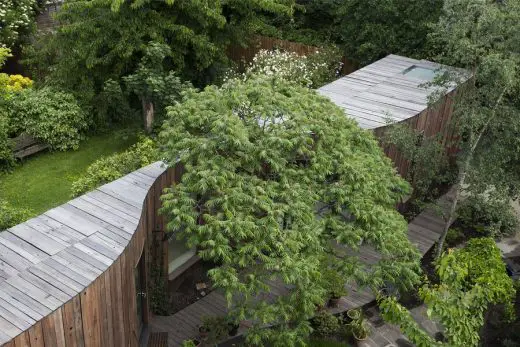
<instances>
[{"instance_id":1,"label":"large spreading green tree behind the lawn, top left","mask_svg":"<svg viewBox=\"0 0 520 347\"><path fill-rule=\"evenodd\" d=\"M139 68L150 42L168 45L164 70L205 84L231 43L247 42L258 13L292 13L293 0L66 1L56 33L28 50L35 74L96 106L109 79ZM32 52L31 52L32 51ZM140 106L140 105L134 105Z\"/></svg>"}]
</instances>

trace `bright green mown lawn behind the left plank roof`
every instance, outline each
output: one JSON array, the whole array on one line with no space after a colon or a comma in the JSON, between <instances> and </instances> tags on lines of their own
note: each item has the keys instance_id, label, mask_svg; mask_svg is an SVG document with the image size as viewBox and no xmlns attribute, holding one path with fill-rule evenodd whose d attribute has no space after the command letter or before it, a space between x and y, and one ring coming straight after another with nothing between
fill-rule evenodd
<instances>
[{"instance_id":1,"label":"bright green mown lawn behind the left plank roof","mask_svg":"<svg viewBox=\"0 0 520 347\"><path fill-rule=\"evenodd\" d=\"M116 132L117 134L117 132ZM0 197L35 215L70 200L71 184L96 159L135 143L134 136L105 134L84 141L80 149L42 153L8 174L0 174Z\"/></svg>"}]
</instances>

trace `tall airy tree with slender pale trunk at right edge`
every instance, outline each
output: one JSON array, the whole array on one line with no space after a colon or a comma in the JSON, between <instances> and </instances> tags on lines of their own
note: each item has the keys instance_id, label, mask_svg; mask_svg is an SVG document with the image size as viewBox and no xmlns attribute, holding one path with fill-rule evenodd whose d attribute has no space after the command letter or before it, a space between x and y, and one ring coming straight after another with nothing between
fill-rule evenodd
<instances>
[{"instance_id":1,"label":"tall airy tree with slender pale trunk at right edge","mask_svg":"<svg viewBox=\"0 0 520 347\"><path fill-rule=\"evenodd\" d=\"M446 0L442 17L431 34L440 52L439 62L465 68L472 74L455 100L459 171L437 259L463 190L470 194L518 196L518 154L511 153L515 148L510 146L518 143L520 135L519 32L518 1ZM437 82L442 85L460 78L460 72L448 70Z\"/></svg>"}]
</instances>

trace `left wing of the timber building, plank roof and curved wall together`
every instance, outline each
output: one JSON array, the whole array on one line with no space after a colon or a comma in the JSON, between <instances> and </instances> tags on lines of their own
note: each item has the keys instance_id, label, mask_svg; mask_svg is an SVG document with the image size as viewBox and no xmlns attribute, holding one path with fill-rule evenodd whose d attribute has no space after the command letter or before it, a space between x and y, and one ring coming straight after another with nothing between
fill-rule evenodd
<instances>
[{"instance_id":1,"label":"left wing of the timber building, plank roof and curved wall together","mask_svg":"<svg viewBox=\"0 0 520 347\"><path fill-rule=\"evenodd\" d=\"M54 223L56 226L54 235L58 235L58 228L68 230L70 227L77 232L82 225L84 228L95 226L97 231L14 274L13 277L23 280L13 282L9 278L0 281L0 343L9 347L138 346L134 271L141 255L146 259L149 253L152 231L164 226L162 218L157 217L159 197L162 189L172 184L173 175L173 170L166 170L156 163L24 223L35 227L35 221L47 220L45 225ZM74 215L59 217L59 213L74 208L78 218L82 219L74 219ZM68 220L71 216L72 219ZM67 224L70 225L65 227ZM16 234L17 227L4 233L7 236ZM53 235L52 230L43 231L43 227L31 231L49 238ZM75 232L71 231L71 234ZM106 239L103 235L107 235ZM112 249L108 237L113 238ZM41 240L43 238L37 241L37 238L31 240L27 237L26 241L41 249L44 248L38 245ZM116 241L119 247L116 247ZM125 243L126 246L122 247ZM117 249L122 252L114 254ZM110 255L112 259L108 261ZM85 284L88 275L95 278ZM17 288L15 283L19 284ZM9 286L9 290L5 286ZM83 288L77 290L80 287ZM28 295L27 302L22 300L23 294L19 292ZM37 294L41 295L39 304L48 308L49 313L35 320L38 312L33 312L36 310L33 306L36 307L38 302L32 301L39 301ZM67 297L69 299L65 301ZM15 301L6 303L8 298ZM60 301L64 303L54 309L46 303ZM143 308L145 321L147 306L145 304ZM6 339L31 321L35 322L30 327L14 338ZM9 331L2 331L6 327Z\"/></svg>"}]
</instances>

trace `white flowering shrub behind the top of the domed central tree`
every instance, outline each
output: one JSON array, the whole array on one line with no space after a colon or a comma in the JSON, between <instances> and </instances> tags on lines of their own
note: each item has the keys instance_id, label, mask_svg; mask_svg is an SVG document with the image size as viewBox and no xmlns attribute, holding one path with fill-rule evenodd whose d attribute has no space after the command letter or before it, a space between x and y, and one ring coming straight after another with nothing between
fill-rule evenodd
<instances>
[{"instance_id":1,"label":"white flowering shrub behind the top of the domed central tree","mask_svg":"<svg viewBox=\"0 0 520 347\"><path fill-rule=\"evenodd\" d=\"M336 50L316 51L308 56L282 50L261 50L247 65L242 78L277 76L307 88L319 88L338 77L342 67L340 60L341 55ZM236 77L237 73L230 71L225 79Z\"/></svg>"}]
</instances>

